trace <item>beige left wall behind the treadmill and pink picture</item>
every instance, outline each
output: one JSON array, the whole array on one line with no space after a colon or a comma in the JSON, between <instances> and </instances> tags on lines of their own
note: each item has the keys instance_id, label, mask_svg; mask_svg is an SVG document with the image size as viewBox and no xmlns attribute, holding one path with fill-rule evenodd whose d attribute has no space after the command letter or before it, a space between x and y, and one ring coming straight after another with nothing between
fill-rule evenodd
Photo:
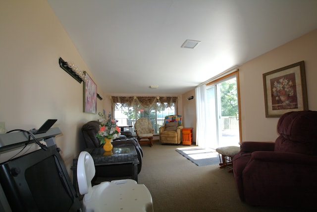
<instances>
[{"instance_id":1,"label":"beige left wall behind the treadmill and pink picture","mask_svg":"<svg viewBox=\"0 0 317 212\"><path fill-rule=\"evenodd\" d=\"M98 115L83 113L83 83L63 71L58 58L94 75L46 0L2 1L0 16L0 121L7 130L29 130L57 119L53 127L62 135L56 142L70 171L83 147L80 128ZM103 103L97 101L101 111Z\"/></svg>"}]
</instances>

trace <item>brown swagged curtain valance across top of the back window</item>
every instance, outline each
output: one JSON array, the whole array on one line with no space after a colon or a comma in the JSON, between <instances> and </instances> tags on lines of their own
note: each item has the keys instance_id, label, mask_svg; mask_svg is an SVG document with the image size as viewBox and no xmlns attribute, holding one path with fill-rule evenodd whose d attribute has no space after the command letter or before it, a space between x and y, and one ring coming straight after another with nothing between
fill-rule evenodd
<instances>
[{"instance_id":1,"label":"brown swagged curtain valance across top of the back window","mask_svg":"<svg viewBox=\"0 0 317 212\"><path fill-rule=\"evenodd\" d=\"M111 96L112 105L116 103L121 106L132 107L134 105L141 105L144 108L157 107L174 107L177 108L178 97L162 97L162 96ZM157 104L159 103L159 104Z\"/></svg>"}]
</instances>

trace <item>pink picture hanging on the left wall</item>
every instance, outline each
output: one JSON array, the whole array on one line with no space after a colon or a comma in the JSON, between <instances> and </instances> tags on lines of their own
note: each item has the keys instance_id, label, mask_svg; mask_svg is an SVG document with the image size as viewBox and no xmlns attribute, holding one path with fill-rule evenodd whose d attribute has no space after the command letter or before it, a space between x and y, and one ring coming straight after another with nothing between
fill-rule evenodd
<instances>
[{"instance_id":1,"label":"pink picture hanging on the left wall","mask_svg":"<svg viewBox=\"0 0 317 212\"><path fill-rule=\"evenodd\" d=\"M84 81L84 113L97 114L97 84L84 71L87 80Z\"/></svg>"}]
</instances>

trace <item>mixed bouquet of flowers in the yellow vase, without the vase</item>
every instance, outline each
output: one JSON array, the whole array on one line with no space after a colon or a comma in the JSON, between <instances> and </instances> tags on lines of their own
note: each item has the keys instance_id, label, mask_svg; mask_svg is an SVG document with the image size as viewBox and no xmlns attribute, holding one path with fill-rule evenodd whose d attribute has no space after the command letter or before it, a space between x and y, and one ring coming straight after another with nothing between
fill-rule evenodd
<instances>
[{"instance_id":1,"label":"mixed bouquet of flowers in the yellow vase, without the vase","mask_svg":"<svg viewBox=\"0 0 317 212\"><path fill-rule=\"evenodd\" d=\"M98 112L98 115L101 117L98 121L99 132L96 134L97 139L99 139L100 144L105 143L105 139L118 139L121 135L120 128L117 126L117 122L112 119L111 114L109 113L106 117L106 111L103 113Z\"/></svg>"}]
</instances>

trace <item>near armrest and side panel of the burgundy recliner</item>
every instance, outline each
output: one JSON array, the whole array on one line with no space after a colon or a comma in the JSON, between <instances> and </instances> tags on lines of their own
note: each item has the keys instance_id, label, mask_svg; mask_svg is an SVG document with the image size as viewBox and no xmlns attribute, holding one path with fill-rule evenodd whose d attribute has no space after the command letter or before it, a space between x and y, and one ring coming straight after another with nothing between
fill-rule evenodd
<instances>
[{"instance_id":1,"label":"near armrest and side panel of the burgundy recliner","mask_svg":"<svg viewBox=\"0 0 317 212\"><path fill-rule=\"evenodd\" d=\"M290 207L294 203L299 208L316 201L316 174L317 156L255 151L235 180L242 200L250 205Z\"/></svg>"}]
</instances>

